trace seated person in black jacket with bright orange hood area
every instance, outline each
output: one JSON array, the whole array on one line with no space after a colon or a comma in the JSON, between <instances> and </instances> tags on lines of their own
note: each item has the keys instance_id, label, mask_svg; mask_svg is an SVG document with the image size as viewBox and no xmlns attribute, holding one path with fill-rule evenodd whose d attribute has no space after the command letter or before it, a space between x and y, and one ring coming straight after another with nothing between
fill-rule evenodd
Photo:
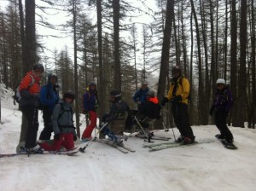
<instances>
[{"instance_id":1,"label":"seated person in black jacket with bright orange hood area","mask_svg":"<svg viewBox=\"0 0 256 191\"><path fill-rule=\"evenodd\" d=\"M147 101L143 104L140 111L134 110L132 113L138 120L138 123L143 127L144 132L148 134L149 124L152 123L154 119L160 119L161 107L157 97L154 96L154 91L148 91L146 100ZM137 120L133 119L133 123L137 124ZM143 130L140 130L140 135L138 136L146 136L144 135Z\"/></svg>"}]
</instances>

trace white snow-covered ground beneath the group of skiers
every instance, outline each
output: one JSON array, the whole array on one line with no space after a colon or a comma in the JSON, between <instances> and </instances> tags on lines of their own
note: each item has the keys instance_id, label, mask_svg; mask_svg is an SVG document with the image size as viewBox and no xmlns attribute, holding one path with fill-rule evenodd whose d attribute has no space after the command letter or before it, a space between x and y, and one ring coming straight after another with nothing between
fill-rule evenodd
<instances>
[{"instance_id":1,"label":"white snow-covered ground beneath the group of skiers","mask_svg":"<svg viewBox=\"0 0 256 191\"><path fill-rule=\"evenodd\" d=\"M11 107L9 101L2 100L0 153L15 153L20 116L20 111ZM38 134L43 128L41 113L39 123ZM193 126L193 130L197 140L214 140L218 133L211 125ZM148 152L148 148L142 147L142 139L131 137L125 145L134 148L136 153L121 153L93 142L86 153L73 157L22 155L2 158L0 190L253 191L256 188L256 130L232 127L230 130L238 150L228 150L215 141ZM177 129L174 132L178 136ZM172 130L155 134L172 136Z\"/></svg>"}]
</instances>

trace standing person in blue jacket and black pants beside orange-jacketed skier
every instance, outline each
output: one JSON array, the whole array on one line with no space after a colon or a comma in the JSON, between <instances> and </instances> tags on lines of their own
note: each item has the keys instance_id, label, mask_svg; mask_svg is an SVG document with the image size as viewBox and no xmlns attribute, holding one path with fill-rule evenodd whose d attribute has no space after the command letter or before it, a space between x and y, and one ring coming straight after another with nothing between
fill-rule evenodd
<instances>
[{"instance_id":1,"label":"standing person in blue jacket and black pants beside orange-jacketed skier","mask_svg":"<svg viewBox=\"0 0 256 191\"><path fill-rule=\"evenodd\" d=\"M40 140L49 140L51 133L53 132L51 124L51 114L57 104L60 101L57 85L57 76L54 73L49 73L48 83L45 84L40 90L40 101L41 107L43 109L43 119L44 119L44 130L41 132Z\"/></svg>"}]
</instances>

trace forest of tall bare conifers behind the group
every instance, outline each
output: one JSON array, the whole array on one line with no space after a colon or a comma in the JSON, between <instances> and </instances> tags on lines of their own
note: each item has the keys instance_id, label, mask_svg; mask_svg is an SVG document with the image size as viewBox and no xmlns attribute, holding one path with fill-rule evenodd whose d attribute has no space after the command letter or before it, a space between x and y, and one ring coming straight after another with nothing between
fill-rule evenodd
<instances>
[{"instance_id":1,"label":"forest of tall bare conifers behind the group","mask_svg":"<svg viewBox=\"0 0 256 191\"><path fill-rule=\"evenodd\" d=\"M157 80L150 88L161 100L176 65L189 78L191 124L212 124L208 111L215 82L224 78L234 96L229 123L255 128L255 0L0 2L0 83L15 89L33 64L42 63L42 84L55 72L61 92L76 93L78 135L82 96L91 80L97 83L102 116L110 90L121 90L136 108L131 97L153 76ZM57 14L63 14L61 20ZM52 32L45 34L44 28ZM54 49L47 38L72 44ZM164 110L167 117L170 107ZM166 122L172 125L172 118Z\"/></svg>"}]
</instances>

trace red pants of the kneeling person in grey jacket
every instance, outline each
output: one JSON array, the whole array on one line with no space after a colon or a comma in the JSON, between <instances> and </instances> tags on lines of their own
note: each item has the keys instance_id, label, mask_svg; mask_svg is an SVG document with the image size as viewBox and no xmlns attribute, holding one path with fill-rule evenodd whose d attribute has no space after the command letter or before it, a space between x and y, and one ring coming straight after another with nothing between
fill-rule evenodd
<instances>
[{"instance_id":1,"label":"red pants of the kneeling person in grey jacket","mask_svg":"<svg viewBox=\"0 0 256 191\"><path fill-rule=\"evenodd\" d=\"M58 151L61 147L70 150L74 148L73 142L73 133L65 133L61 134L59 140L54 140L53 144L49 144L48 142L43 142L39 144L41 148L45 151Z\"/></svg>"}]
</instances>

